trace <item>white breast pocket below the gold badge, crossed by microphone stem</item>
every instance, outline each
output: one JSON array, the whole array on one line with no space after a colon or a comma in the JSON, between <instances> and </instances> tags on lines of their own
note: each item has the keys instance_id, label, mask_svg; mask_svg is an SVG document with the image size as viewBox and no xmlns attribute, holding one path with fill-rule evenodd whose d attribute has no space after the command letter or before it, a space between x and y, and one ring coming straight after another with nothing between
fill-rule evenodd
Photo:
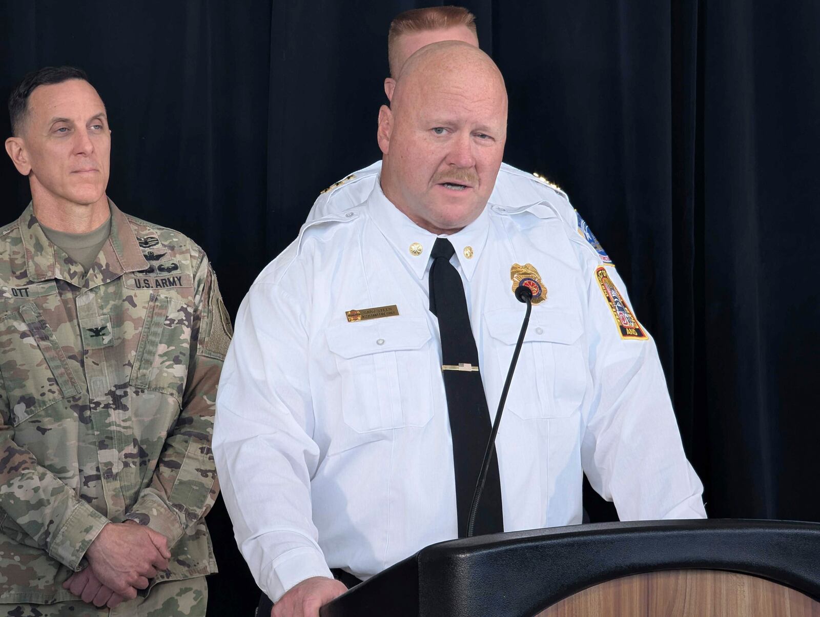
<instances>
[{"instance_id":1,"label":"white breast pocket below the gold badge, crossed by microphone stem","mask_svg":"<svg viewBox=\"0 0 820 617\"><path fill-rule=\"evenodd\" d=\"M521 331L522 309L485 315L503 374ZM546 307L532 309L506 409L519 418L566 418L581 407L586 391L586 362L581 319Z\"/></svg>"}]
</instances>

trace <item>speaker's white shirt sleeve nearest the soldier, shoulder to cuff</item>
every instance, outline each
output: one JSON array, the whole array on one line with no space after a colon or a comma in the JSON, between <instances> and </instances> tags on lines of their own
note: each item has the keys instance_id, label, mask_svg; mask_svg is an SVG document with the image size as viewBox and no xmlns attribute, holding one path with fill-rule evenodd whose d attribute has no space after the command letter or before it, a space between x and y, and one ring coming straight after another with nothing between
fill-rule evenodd
<instances>
[{"instance_id":1,"label":"speaker's white shirt sleeve nearest the soldier, shoulder to cuff","mask_svg":"<svg viewBox=\"0 0 820 617\"><path fill-rule=\"evenodd\" d=\"M277 601L296 583L331 574L312 522L319 449L303 312L267 281L257 281L239 308L216 397L213 452L239 550Z\"/></svg>"}]
</instances>

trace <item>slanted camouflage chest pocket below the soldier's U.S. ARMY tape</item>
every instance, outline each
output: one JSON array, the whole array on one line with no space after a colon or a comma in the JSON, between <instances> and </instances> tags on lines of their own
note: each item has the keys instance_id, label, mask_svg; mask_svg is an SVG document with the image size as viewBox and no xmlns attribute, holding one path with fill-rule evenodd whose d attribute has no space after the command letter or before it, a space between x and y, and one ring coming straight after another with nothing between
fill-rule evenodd
<instances>
[{"instance_id":1,"label":"slanted camouflage chest pocket below the soldier's U.S. ARMY tape","mask_svg":"<svg viewBox=\"0 0 820 617\"><path fill-rule=\"evenodd\" d=\"M180 405L188 377L194 309L167 295L148 300L130 384L173 396Z\"/></svg>"}]
</instances>

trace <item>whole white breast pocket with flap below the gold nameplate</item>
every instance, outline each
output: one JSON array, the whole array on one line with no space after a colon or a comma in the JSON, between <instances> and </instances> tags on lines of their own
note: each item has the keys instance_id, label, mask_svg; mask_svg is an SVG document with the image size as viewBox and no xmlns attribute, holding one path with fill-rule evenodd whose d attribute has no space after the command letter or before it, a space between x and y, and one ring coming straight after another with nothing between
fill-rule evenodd
<instances>
[{"instance_id":1,"label":"whole white breast pocket with flap below the gold nameplate","mask_svg":"<svg viewBox=\"0 0 820 617\"><path fill-rule=\"evenodd\" d=\"M430 327L391 317L327 329L341 377L344 423L356 432L423 427L433 415Z\"/></svg>"}]
</instances>

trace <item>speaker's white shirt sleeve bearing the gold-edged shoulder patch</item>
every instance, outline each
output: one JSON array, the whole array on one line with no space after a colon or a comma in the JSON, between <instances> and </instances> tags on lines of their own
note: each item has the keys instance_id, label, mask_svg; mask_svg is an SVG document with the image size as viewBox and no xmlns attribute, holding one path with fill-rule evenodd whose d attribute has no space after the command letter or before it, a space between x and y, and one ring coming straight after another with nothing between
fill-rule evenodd
<instances>
[{"instance_id":1,"label":"speaker's white shirt sleeve bearing the gold-edged shoulder patch","mask_svg":"<svg viewBox=\"0 0 820 617\"><path fill-rule=\"evenodd\" d=\"M621 277L604 268L628 306ZM622 338L594 268L588 272L594 387L581 446L587 478L613 500L621 520L706 518L703 485L686 459L654 340Z\"/></svg>"}]
</instances>

